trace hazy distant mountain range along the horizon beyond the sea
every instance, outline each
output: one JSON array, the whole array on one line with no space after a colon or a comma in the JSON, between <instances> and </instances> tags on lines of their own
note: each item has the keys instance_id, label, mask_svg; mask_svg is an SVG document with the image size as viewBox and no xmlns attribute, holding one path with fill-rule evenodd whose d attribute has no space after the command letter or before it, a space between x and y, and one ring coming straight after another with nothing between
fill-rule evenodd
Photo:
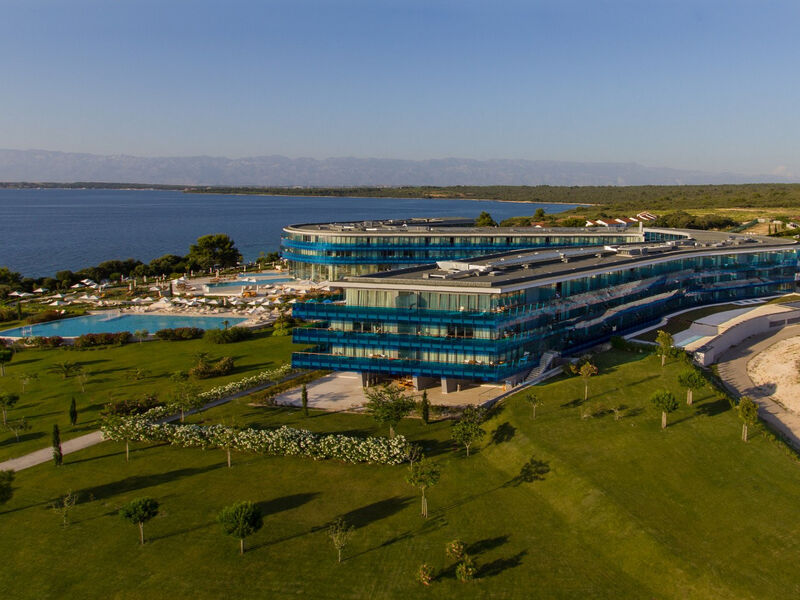
<instances>
[{"instance_id":1,"label":"hazy distant mountain range along the horizon beyond the sea","mask_svg":"<svg viewBox=\"0 0 800 600\"><path fill-rule=\"evenodd\" d=\"M796 178L645 167L637 163L443 158L141 157L0 149L0 181L105 181L223 186L681 185Z\"/></svg>"}]
</instances>

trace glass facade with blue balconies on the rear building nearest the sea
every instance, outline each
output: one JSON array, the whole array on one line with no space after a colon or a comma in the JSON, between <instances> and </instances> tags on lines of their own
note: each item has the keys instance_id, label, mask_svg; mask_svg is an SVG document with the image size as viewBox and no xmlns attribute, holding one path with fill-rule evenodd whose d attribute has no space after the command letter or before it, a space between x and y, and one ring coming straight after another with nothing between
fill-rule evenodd
<instances>
[{"instance_id":1,"label":"glass facade with blue balconies on the rear building nearest the sea","mask_svg":"<svg viewBox=\"0 0 800 600\"><path fill-rule=\"evenodd\" d=\"M641 242L647 235L624 227L529 229L448 227L418 233L348 233L296 225L284 229L281 254L297 279L335 281L512 250Z\"/></svg>"}]
</instances>

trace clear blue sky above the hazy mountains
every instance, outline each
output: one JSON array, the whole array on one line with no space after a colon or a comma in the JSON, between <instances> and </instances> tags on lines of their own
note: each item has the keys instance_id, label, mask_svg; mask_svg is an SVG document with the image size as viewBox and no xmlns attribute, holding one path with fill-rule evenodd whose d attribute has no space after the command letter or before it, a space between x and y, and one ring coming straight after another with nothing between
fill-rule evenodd
<instances>
[{"instance_id":1,"label":"clear blue sky above the hazy mountains","mask_svg":"<svg viewBox=\"0 0 800 600\"><path fill-rule=\"evenodd\" d=\"M800 176L797 0L0 9L0 148Z\"/></svg>"}]
</instances>

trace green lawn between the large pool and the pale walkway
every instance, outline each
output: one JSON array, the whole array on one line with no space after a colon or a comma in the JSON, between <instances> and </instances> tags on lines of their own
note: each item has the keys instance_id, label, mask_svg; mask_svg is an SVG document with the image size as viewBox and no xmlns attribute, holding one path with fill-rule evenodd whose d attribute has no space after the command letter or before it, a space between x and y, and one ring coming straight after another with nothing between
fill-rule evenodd
<instances>
[{"instance_id":1,"label":"green lawn between the large pool and the pale walkway","mask_svg":"<svg viewBox=\"0 0 800 600\"><path fill-rule=\"evenodd\" d=\"M6 375L0 377L0 390L20 393L20 400L9 412L9 419L25 417L31 431L23 433L17 442L13 433L0 428L0 461L38 450L50 443L53 423L58 423L62 439L70 439L97 429L97 417L110 400L122 400L155 393L166 398L174 385L170 373L188 370L198 352L212 356L232 356L236 369L231 375L204 379L199 383L208 389L241 379L264 369L289 362L293 346L289 336L272 337L260 332L252 340L235 344L211 344L203 339L182 342L153 341L109 346L96 349L25 350L6 364ZM48 368L61 361L80 363L89 373L86 391L81 391L77 378L63 379L48 372ZM132 379L129 371L142 368L149 373L143 379ZM29 383L21 393L20 376L34 373L39 379ZM69 425L68 410L72 397L78 405L78 425Z\"/></svg>"}]
</instances>

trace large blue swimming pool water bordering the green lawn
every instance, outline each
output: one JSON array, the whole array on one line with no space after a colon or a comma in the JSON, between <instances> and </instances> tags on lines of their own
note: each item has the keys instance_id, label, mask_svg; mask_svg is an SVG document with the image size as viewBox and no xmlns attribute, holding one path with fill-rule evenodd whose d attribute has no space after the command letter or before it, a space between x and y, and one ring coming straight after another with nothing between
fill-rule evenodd
<instances>
[{"instance_id":1,"label":"large blue swimming pool water bordering the green lawn","mask_svg":"<svg viewBox=\"0 0 800 600\"><path fill-rule=\"evenodd\" d=\"M8 337L77 337L84 333L119 333L120 331L139 331L146 329L155 333L159 329L175 327L199 327L200 329L221 329L223 321L236 325L247 319L229 317L189 317L185 315L86 315L61 321L51 321L38 325L16 327L0 331Z\"/></svg>"}]
</instances>

